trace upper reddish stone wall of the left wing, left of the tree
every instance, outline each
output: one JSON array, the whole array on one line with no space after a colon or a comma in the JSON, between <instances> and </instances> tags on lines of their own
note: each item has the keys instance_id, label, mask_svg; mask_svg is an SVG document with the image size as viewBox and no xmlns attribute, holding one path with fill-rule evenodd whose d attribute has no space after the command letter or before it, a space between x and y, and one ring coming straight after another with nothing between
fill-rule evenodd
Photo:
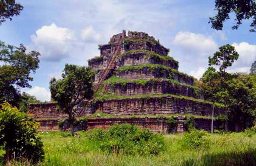
<instances>
[{"instance_id":1,"label":"upper reddish stone wall of the left wing, left of the tree","mask_svg":"<svg viewBox=\"0 0 256 166\"><path fill-rule=\"evenodd\" d=\"M56 109L57 103L30 104L29 114L34 118L66 118L67 114Z\"/></svg>"}]
</instances>

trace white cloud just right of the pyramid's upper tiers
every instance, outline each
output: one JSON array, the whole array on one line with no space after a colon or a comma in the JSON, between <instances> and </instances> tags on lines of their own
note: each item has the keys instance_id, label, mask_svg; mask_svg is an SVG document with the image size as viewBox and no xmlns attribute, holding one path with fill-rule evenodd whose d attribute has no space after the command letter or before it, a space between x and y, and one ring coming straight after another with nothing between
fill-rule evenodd
<instances>
[{"instance_id":1,"label":"white cloud just right of the pyramid's upper tiers","mask_svg":"<svg viewBox=\"0 0 256 166\"><path fill-rule=\"evenodd\" d=\"M218 49L217 43L210 36L192 32L178 32L172 43L188 51L196 51L201 55L208 55L207 53Z\"/></svg>"}]
</instances>

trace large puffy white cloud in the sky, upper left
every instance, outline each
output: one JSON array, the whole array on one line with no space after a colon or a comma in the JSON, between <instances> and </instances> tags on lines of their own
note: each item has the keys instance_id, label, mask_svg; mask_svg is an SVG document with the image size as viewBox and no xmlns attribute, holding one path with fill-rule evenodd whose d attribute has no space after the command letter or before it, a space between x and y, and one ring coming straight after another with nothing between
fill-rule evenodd
<instances>
[{"instance_id":1,"label":"large puffy white cloud in the sky, upper left","mask_svg":"<svg viewBox=\"0 0 256 166\"><path fill-rule=\"evenodd\" d=\"M31 35L32 48L41 53L43 60L60 61L70 55L75 44L75 33L52 23L43 26Z\"/></svg>"}]
</instances>

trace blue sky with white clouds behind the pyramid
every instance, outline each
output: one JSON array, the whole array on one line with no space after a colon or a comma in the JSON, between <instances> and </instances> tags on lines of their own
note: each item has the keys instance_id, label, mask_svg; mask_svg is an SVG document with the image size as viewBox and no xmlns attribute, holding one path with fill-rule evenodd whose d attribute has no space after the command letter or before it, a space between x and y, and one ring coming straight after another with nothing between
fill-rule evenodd
<instances>
[{"instance_id":1,"label":"blue sky with white clouds behind the pyramid","mask_svg":"<svg viewBox=\"0 0 256 166\"><path fill-rule=\"evenodd\" d=\"M256 60L256 33L249 32L250 20L239 30L231 29L233 19L222 31L211 29L214 0L16 1L24 9L0 26L0 39L41 53L32 89L24 89L41 101L50 100L50 78L59 78L65 63L88 65L88 59L99 56L98 44L106 44L122 30L159 39L179 61L179 70L198 79L207 69L208 56L224 44L234 45L240 53L230 72L248 72Z\"/></svg>"}]
</instances>

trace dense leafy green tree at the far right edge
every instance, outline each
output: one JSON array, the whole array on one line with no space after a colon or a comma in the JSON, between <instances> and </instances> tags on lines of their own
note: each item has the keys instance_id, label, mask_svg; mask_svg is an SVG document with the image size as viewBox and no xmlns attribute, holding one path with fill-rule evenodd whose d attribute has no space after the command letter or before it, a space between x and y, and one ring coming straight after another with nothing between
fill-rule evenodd
<instances>
[{"instance_id":1,"label":"dense leafy green tree at the far right edge","mask_svg":"<svg viewBox=\"0 0 256 166\"><path fill-rule=\"evenodd\" d=\"M246 128L256 117L256 86L253 77L246 73L235 73L228 83L230 98L227 111L229 120L240 124L242 129Z\"/></svg>"}]
</instances>

